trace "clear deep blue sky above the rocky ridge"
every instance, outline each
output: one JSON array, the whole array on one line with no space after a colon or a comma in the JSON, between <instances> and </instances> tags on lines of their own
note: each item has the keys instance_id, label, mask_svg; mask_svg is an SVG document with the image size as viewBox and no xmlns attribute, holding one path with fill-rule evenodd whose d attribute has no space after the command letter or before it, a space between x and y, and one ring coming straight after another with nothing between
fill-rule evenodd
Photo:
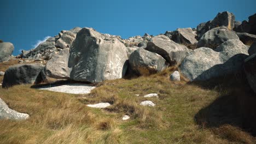
<instances>
[{"instance_id":1,"label":"clear deep blue sky above the rocky ridge","mask_svg":"<svg viewBox=\"0 0 256 144\"><path fill-rule=\"evenodd\" d=\"M193 28L213 19L220 11L230 11L240 21L256 13L255 0L0 1L0 39L14 44L14 55L22 49L33 48L46 36L76 26L93 27L101 33L128 38Z\"/></svg>"}]
</instances>

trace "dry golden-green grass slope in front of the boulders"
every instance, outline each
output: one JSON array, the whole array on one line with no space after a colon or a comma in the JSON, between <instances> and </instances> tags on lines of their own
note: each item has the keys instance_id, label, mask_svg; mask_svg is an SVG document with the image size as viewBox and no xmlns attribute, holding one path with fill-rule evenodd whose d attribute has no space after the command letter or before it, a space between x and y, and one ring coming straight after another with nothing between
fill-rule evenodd
<instances>
[{"instance_id":1,"label":"dry golden-green grass slope in front of the boulders","mask_svg":"<svg viewBox=\"0 0 256 144\"><path fill-rule=\"evenodd\" d=\"M31 85L0 88L11 109L30 115L26 121L1 120L0 143L256 143L249 133L253 127L246 125L254 121L256 100L245 77L171 82L174 69L104 81L84 95ZM159 99L143 97L149 93L158 93ZM139 105L143 100L156 106ZM98 102L113 105L86 106ZM131 119L122 121L124 115Z\"/></svg>"}]
</instances>

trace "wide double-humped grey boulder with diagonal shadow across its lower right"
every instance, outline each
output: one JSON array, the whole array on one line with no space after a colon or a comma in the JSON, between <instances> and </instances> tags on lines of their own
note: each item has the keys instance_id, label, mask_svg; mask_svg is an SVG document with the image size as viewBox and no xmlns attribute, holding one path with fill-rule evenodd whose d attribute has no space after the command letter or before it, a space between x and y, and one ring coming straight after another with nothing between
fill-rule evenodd
<instances>
[{"instance_id":1,"label":"wide double-humped grey boulder with diagonal shadow across its lower right","mask_svg":"<svg viewBox=\"0 0 256 144\"><path fill-rule=\"evenodd\" d=\"M216 51L200 47L184 58L181 73L190 81L203 81L241 69L248 47L240 40L228 40Z\"/></svg>"}]
</instances>

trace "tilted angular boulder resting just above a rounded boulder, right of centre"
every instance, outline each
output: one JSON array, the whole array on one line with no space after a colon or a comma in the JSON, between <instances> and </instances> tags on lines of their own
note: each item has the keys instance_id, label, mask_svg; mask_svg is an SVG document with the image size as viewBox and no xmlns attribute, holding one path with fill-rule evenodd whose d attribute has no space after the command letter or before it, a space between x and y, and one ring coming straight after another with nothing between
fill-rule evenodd
<instances>
[{"instance_id":1,"label":"tilted angular boulder resting just above a rounded boulder, right of centre","mask_svg":"<svg viewBox=\"0 0 256 144\"><path fill-rule=\"evenodd\" d=\"M165 35L152 38L148 42L146 50L158 53L171 65L180 64L191 51L186 46L175 43Z\"/></svg>"}]
</instances>

